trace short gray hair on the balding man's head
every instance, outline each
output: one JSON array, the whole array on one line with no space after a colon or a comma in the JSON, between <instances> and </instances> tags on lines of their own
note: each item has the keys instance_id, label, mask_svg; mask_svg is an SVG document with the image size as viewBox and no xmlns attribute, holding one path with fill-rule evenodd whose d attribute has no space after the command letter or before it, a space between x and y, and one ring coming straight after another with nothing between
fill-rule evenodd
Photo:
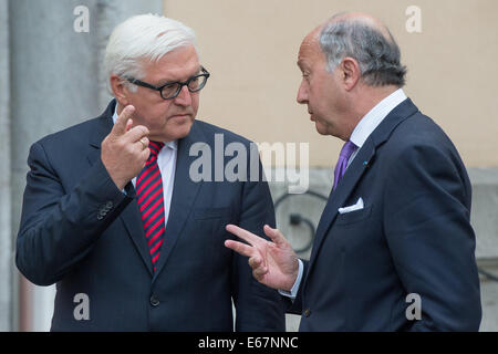
<instances>
[{"instance_id":1,"label":"short gray hair on the balding man's head","mask_svg":"<svg viewBox=\"0 0 498 354\"><path fill-rule=\"evenodd\" d=\"M332 18L334 20L340 15ZM406 66L401 64L401 52L393 35L361 20L343 19L324 25L320 33L320 48L333 72L346 56L359 62L363 81L370 86L404 86Z\"/></svg>"}]
</instances>

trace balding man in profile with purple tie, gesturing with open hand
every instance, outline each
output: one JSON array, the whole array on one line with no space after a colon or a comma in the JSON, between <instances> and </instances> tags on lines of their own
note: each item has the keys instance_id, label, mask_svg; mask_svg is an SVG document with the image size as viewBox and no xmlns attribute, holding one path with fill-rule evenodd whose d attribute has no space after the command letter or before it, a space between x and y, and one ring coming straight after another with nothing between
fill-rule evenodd
<instances>
[{"instance_id":1,"label":"balding man in profile with purple tie, gesturing with open hand","mask_svg":"<svg viewBox=\"0 0 498 354\"><path fill-rule=\"evenodd\" d=\"M302 331L477 331L471 189L449 138L402 90L400 49L378 20L341 13L301 44L298 102L345 142L310 261L234 225L261 283L291 298Z\"/></svg>"}]
</instances>

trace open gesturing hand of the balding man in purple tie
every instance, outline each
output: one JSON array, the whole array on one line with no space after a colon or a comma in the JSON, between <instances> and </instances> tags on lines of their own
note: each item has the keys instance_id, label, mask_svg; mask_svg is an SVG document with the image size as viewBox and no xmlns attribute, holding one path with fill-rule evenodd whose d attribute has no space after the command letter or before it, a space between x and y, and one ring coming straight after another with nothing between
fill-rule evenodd
<instances>
[{"instance_id":1,"label":"open gesturing hand of the balding man in purple tie","mask_svg":"<svg viewBox=\"0 0 498 354\"><path fill-rule=\"evenodd\" d=\"M264 226L264 233L272 242L235 225L227 225L227 231L238 236L249 244L226 240L225 246L249 257L252 275L262 284L290 291L298 278L298 258L288 240L278 229Z\"/></svg>"}]
</instances>

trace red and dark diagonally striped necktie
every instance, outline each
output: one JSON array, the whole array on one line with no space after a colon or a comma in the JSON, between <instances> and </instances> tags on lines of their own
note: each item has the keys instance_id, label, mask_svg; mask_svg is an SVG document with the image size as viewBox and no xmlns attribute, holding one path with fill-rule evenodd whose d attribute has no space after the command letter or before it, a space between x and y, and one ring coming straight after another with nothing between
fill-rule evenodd
<instances>
[{"instance_id":1,"label":"red and dark diagonally striped necktie","mask_svg":"<svg viewBox=\"0 0 498 354\"><path fill-rule=\"evenodd\" d=\"M151 251L154 271L156 271L155 264L159 259L159 250L166 229L164 223L163 178L157 165L157 155L163 146L164 143L149 143L151 156L145 163L144 169L138 174L135 184L137 204L144 222L145 238Z\"/></svg>"}]
</instances>

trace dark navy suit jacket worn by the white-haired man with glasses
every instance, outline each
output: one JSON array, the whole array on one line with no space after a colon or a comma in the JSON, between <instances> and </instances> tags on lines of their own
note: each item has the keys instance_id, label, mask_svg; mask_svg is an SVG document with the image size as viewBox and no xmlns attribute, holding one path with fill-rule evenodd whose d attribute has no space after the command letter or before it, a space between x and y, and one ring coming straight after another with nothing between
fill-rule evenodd
<instances>
[{"instance_id":1,"label":"dark navy suit jacket worn by the white-haired man with glasses","mask_svg":"<svg viewBox=\"0 0 498 354\"><path fill-rule=\"evenodd\" d=\"M116 188L100 159L115 102L94 119L32 145L15 261L33 283L56 283L53 331L284 331L281 298L256 280L247 259L224 246L236 223L262 233L274 225L266 183L194 183L195 143L215 152L249 142L196 121L178 142L175 186L157 271L152 269L129 183ZM214 156L212 156L214 157ZM258 160L259 164L259 160ZM214 167L212 167L214 171ZM90 320L76 321L74 296L90 300Z\"/></svg>"}]
</instances>

